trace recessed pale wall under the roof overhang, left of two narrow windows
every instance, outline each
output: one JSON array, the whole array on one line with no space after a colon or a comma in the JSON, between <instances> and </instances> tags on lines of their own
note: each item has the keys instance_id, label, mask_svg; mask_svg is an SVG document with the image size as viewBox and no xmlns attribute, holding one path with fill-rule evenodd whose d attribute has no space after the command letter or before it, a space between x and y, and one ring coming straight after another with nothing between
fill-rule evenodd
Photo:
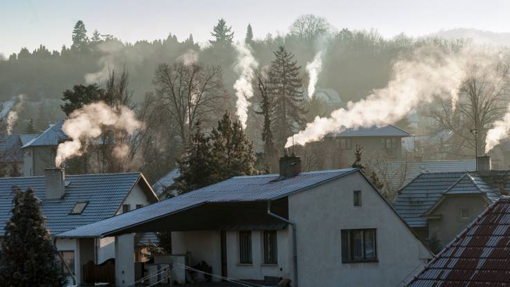
<instances>
[{"instance_id":1,"label":"recessed pale wall under the roof overhang, left of two narrow windows","mask_svg":"<svg viewBox=\"0 0 510 287\"><path fill-rule=\"evenodd\" d=\"M219 231L172 232L172 254L191 253L190 265L206 261L212 273L221 275L221 241ZM213 281L219 281L213 277Z\"/></svg>"}]
</instances>

